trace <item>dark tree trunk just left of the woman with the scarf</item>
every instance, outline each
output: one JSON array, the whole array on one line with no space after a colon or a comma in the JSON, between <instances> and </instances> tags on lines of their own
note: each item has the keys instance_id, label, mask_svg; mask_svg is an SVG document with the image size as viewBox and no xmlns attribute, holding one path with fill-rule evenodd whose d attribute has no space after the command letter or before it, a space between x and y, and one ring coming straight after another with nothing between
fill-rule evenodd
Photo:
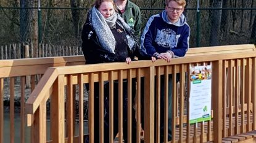
<instances>
[{"instance_id":1,"label":"dark tree trunk just left of the woman with the scarf","mask_svg":"<svg viewBox=\"0 0 256 143\"><path fill-rule=\"evenodd\" d=\"M70 0L70 6L73 8L81 7L81 1L80 0ZM81 33L81 28L80 28L80 23L81 23L81 10L77 9L71 9L72 12L72 20L73 20L73 31L75 34L76 38L76 45L79 45L78 41L80 39L80 33Z\"/></svg>"}]
</instances>

